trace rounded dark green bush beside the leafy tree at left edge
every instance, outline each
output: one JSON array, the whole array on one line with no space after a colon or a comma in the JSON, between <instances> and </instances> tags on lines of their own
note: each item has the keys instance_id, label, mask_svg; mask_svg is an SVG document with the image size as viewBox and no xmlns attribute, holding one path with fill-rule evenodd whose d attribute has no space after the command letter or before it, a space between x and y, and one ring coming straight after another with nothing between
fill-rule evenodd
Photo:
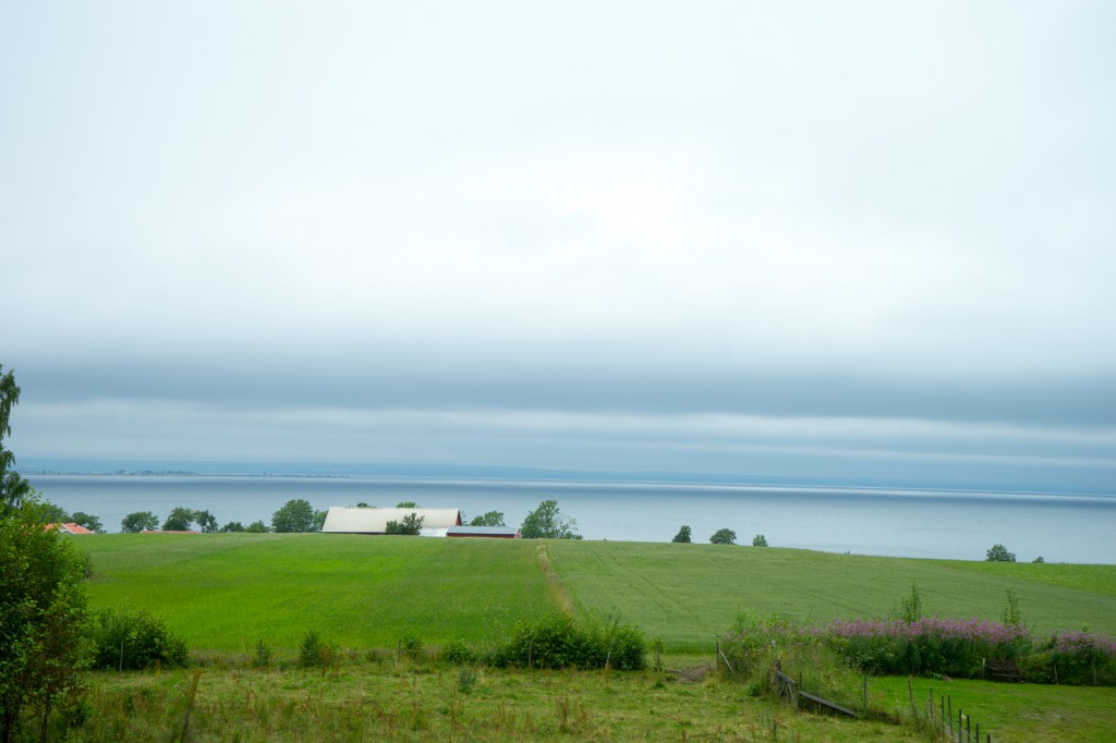
<instances>
[{"instance_id":1,"label":"rounded dark green bush beside the leafy tree at left edge","mask_svg":"<svg viewBox=\"0 0 1116 743\"><path fill-rule=\"evenodd\" d=\"M103 609L92 625L95 668L142 669L189 663L185 640L142 609Z\"/></svg>"}]
</instances>

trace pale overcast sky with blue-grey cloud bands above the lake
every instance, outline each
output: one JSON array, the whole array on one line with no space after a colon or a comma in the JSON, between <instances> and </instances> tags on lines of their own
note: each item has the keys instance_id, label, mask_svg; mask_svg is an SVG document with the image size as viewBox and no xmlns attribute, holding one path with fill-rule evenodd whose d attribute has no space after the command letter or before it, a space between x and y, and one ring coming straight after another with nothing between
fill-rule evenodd
<instances>
[{"instance_id":1,"label":"pale overcast sky with blue-grey cloud bands above the lake","mask_svg":"<svg viewBox=\"0 0 1116 743\"><path fill-rule=\"evenodd\" d=\"M4 3L11 448L1116 492L1114 28Z\"/></svg>"}]
</instances>

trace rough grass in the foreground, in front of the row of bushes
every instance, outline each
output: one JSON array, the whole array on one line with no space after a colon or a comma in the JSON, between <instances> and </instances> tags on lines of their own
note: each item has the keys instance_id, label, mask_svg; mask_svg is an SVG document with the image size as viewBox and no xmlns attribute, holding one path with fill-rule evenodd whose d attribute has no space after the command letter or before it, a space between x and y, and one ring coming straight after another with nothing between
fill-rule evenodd
<instances>
[{"instance_id":1,"label":"rough grass in the foreground, in front of the row of bushes","mask_svg":"<svg viewBox=\"0 0 1116 743\"><path fill-rule=\"evenodd\" d=\"M514 670L392 654L318 669L225 659L179 670L99 673L59 716L67 740L195 741L931 741L912 724L907 679L872 678L869 714L798 713L672 656L662 672ZM950 694L993 741L1107 741L1116 689L916 679L915 698Z\"/></svg>"}]
</instances>

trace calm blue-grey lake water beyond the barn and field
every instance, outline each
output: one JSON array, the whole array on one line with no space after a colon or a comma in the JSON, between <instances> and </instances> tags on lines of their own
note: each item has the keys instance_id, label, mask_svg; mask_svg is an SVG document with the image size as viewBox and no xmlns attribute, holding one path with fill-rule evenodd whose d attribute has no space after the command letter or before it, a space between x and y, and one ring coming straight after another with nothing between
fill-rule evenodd
<instances>
[{"instance_id":1,"label":"calm blue-grey lake water beyond the barn and field","mask_svg":"<svg viewBox=\"0 0 1116 743\"><path fill-rule=\"evenodd\" d=\"M696 485L615 482L298 477L248 475L29 475L67 511L98 517L108 531L133 511L165 519L177 505L208 509L220 523L248 524L291 499L330 505L460 508L465 518L502 511L519 523L556 499L586 539L670 541L682 524L705 542L721 528L751 544L913 558L982 560L1002 543L1020 561L1116 563L1116 496Z\"/></svg>"}]
</instances>

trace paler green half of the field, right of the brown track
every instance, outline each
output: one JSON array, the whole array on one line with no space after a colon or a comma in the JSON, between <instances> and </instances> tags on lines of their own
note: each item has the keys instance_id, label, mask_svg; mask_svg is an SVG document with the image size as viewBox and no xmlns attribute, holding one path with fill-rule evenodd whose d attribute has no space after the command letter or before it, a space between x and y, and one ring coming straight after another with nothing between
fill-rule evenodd
<instances>
[{"instance_id":1,"label":"paler green half of the field, right of the brown track","mask_svg":"<svg viewBox=\"0 0 1116 743\"><path fill-rule=\"evenodd\" d=\"M1087 625L1116 635L1113 566L973 568L984 563L617 542L552 542L548 554L578 608L618 611L675 648L708 647L738 610L796 623L884 616L912 581L927 615L998 619L1011 589L1039 633Z\"/></svg>"}]
</instances>

